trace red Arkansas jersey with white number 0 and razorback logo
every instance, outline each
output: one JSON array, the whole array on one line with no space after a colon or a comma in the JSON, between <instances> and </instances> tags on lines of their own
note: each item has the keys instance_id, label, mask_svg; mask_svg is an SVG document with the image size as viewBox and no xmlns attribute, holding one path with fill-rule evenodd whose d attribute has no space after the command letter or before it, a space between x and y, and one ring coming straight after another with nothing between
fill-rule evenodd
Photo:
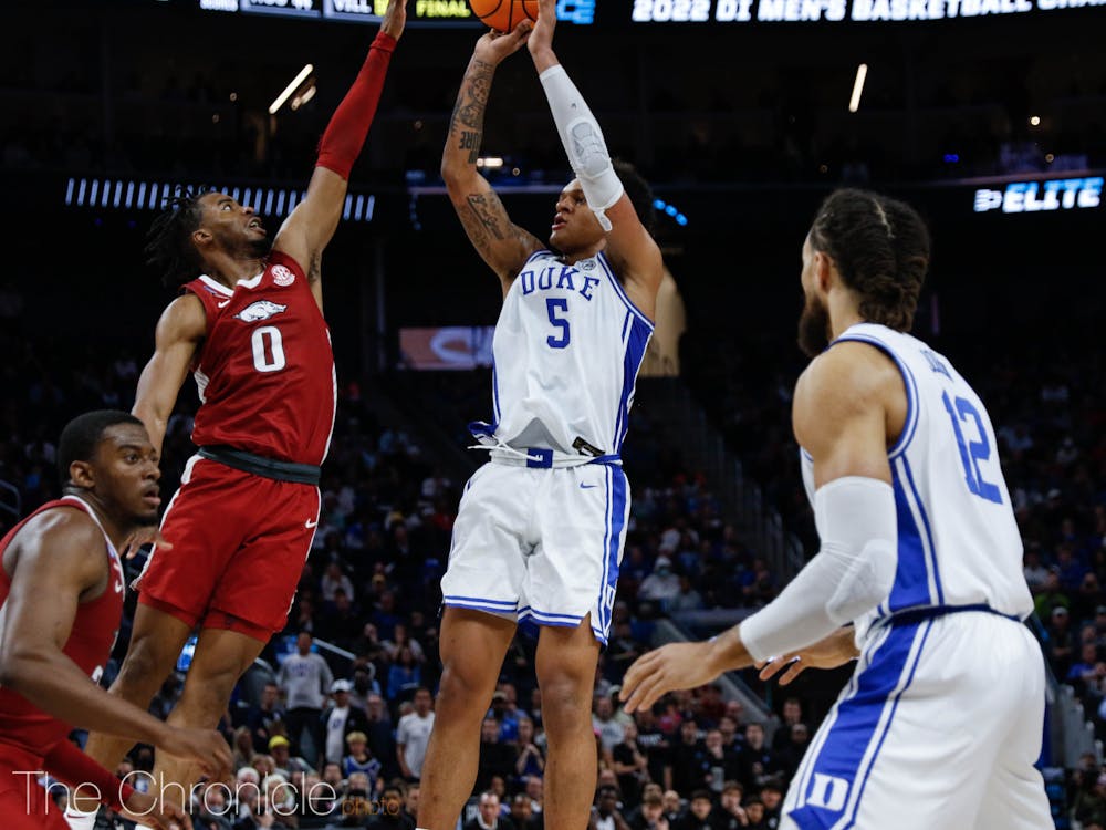
<instances>
[{"instance_id":1,"label":"red Arkansas jersey with white number 0 and razorback logo","mask_svg":"<svg viewBox=\"0 0 1106 830\"><path fill-rule=\"evenodd\" d=\"M233 290L207 276L184 288L207 313L192 364L202 404L192 442L322 464L337 386L330 330L303 269L272 251L265 269Z\"/></svg>"}]
</instances>

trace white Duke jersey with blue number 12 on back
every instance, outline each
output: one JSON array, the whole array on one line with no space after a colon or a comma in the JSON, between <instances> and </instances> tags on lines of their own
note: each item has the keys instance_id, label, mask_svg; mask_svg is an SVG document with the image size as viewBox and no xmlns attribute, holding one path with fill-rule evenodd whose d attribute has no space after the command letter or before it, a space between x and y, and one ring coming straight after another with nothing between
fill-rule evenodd
<instances>
[{"instance_id":1,"label":"white Duke jersey with blue number 12 on back","mask_svg":"<svg viewBox=\"0 0 1106 830\"><path fill-rule=\"evenodd\" d=\"M885 602L856 621L858 636L905 609L985 604L1029 616L1021 535L979 396L946 357L909 334L859 323L834 344L844 341L889 355L907 394L906 424L887 455L898 520L895 584ZM811 457L802 455L813 501Z\"/></svg>"}]
</instances>

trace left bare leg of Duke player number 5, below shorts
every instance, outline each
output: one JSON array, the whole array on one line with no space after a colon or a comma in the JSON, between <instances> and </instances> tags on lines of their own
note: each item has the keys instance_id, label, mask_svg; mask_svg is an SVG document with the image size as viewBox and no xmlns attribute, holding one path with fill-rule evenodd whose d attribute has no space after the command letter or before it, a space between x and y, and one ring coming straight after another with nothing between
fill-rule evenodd
<instances>
[{"instance_id":1,"label":"left bare leg of Duke player number 5, below shorts","mask_svg":"<svg viewBox=\"0 0 1106 830\"><path fill-rule=\"evenodd\" d=\"M514 620L481 611L447 608L442 615L442 672L434 732L422 761L420 828L452 830L472 792L480 758L480 725L514 630Z\"/></svg>"}]
</instances>

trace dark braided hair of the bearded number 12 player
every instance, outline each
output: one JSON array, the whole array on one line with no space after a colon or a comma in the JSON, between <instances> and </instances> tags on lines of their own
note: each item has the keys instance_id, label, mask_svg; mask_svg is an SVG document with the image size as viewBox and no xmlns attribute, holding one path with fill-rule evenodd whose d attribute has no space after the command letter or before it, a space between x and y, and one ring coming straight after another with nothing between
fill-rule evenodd
<instances>
[{"instance_id":1,"label":"dark braided hair of the bearded number 12 player","mask_svg":"<svg viewBox=\"0 0 1106 830\"><path fill-rule=\"evenodd\" d=\"M910 330L929 269L929 231L914 208L867 190L835 190L814 217L811 246L833 259L865 320Z\"/></svg>"}]
</instances>

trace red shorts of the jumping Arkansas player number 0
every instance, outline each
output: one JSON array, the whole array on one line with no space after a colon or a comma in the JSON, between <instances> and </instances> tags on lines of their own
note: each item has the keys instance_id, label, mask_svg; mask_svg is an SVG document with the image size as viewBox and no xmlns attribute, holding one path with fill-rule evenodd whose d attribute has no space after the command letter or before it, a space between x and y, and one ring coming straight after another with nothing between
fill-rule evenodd
<instances>
[{"instance_id":1,"label":"red shorts of the jumping Arkansas player number 0","mask_svg":"<svg viewBox=\"0 0 1106 830\"><path fill-rule=\"evenodd\" d=\"M319 488L195 456L135 581L138 601L189 625L268 642L284 627L319 523Z\"/></svg>"}]
</instances>

